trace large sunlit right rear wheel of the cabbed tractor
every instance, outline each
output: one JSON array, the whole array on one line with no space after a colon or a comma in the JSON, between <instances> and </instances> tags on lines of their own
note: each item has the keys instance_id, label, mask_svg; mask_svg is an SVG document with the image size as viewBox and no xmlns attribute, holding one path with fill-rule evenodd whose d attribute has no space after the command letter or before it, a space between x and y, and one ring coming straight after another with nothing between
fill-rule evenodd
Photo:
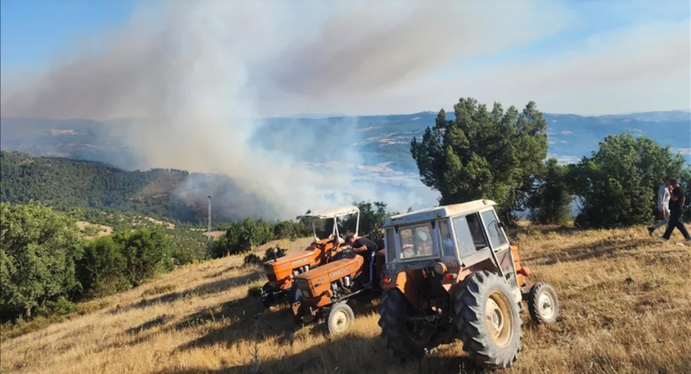
<instances>
[{"instance_id":1,"label":"large sunlit right rear wheel of the cabbed tractor","mask_svg":"<svg viewBox=\"0 0 691 374\"><path fill-rule=\"evenodd\" d=\"M507 368L518 358L522 320L515 297L502 277L478 271L454 294L455 324L463 350L487 368Z\"/></svg>"}]
</instances>

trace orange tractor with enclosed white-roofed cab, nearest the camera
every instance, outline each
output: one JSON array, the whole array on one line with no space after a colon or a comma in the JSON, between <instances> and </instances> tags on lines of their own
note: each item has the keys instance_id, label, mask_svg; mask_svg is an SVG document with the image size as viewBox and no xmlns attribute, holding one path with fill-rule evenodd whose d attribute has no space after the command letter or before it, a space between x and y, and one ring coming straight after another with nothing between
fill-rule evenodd
<instances>
[{"instance_id":1,"label":"orange tractor with enclosed white-roofed cab, nearest the camera","mask_svg":"<svg viewBox=\"0 0 691 374\"><path fill-rule=\"evenodd\" d=\"M418 210L386 219L381 337L393 355L421 358L456 339L471 360L506 368L518 358L522 302L537 324L556 322L547 283L529 287L490 200Z\"/></svg>"}]
</instances>

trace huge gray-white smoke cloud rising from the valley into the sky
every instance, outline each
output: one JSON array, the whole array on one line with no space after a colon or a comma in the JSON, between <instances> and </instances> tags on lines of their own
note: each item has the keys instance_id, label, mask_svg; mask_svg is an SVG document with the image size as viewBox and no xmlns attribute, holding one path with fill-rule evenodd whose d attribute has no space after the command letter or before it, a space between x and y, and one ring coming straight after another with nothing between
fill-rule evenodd
<instances>
[{"instance_id":1,"label":"huge gray-white smoke cloud rising from the valley into the sky","mask_svg":"<svg viewBox=\"0 0 691 374\"><path fill-rule=\"evenodd\" d=\"M261 117L368 110L430 69L495 52L556 30L536 3L450 1L147 1L129 24L97 37L68 58L3 92L4 117L140 117L117 128L140 168L182 168L228 175L239 190L291 218L306 208L386 201L393 208L435 203L415 193L363 186L345 166L315 170L294 155L257 148ZM543 8L545 4L541 5ZM460 92L462 95L462 92ZM449 98L453 100L454 98ZM435 109L435 108L432 108ZM292 137L296 149L332 152L361 165L343 142ZM299 141L303 139L303 141ZM201 188L193 179L182 189ZM251 204L236 204L253 215Z\"/></svg>"}]
</instances>

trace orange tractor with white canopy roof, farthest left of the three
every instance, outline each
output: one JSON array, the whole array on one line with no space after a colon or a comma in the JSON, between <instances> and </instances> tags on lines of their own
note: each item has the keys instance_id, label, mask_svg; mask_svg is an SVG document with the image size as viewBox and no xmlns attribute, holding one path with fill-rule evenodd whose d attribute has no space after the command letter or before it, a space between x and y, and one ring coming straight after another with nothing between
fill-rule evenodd
<instances>
[{"instance_id":1,"label":"orange tractor with white canopy roof, farthest left of the three","mask_svg":"<svg viewBox=\"0 0 691 374\"><path fill-rule=\"evenodd\" d=\"M360 210L357 206L338 206L298 216L296 219L305 219L312 224L314 242L300 253L294 253L284 257L278 257L264 263L264 270L268 282L261 288L261 301L265 308L276 304L287 295L289 304L296 302L301 297L297 286L293 282L296 275L316 268L328 262L328 260L341 252L341 244L344 239L339 236L338 218L357 214L355 222L355 235L360 225ZM334 228L325 239L319 239L316 235L315 222L319 219L333 219Z\"/></svg>"}]
</instances>

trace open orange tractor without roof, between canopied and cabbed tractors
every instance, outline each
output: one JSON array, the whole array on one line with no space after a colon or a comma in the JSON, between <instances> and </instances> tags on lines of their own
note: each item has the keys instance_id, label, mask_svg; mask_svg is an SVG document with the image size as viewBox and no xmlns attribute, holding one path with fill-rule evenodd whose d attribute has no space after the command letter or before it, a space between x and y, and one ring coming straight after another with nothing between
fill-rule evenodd
<instances>
[{"instance_id":1,"label":"open orange tractor without roof, between canopied and cabbed tractors","mask_svg":"<svg viewBox=\"0 0 691 374\"><path fill-rule=\"evenodd\" d=\"M375 254L375 274L373 279L381 279L381 268L384 265L384 250ZM326 319L331 335L347 330L355 316L351 300L370 304L381 295L381 289L363 287L368 279L362 279L365 261L361 255L346 249L339 253L328 264L307 271L295 277L302 298L292 304L294 319L297 323L309 323L319 317Z\"/></svg>"}]
</instances>

